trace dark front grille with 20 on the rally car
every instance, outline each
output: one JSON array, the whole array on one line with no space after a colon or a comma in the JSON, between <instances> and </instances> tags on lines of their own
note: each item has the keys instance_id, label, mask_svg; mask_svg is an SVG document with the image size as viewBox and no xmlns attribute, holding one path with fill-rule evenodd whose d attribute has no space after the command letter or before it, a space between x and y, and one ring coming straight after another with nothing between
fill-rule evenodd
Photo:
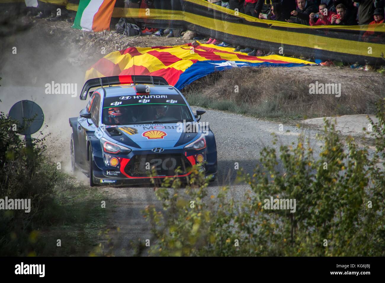
<instances>
[{"instance_id":1,"label":"dark front grille with 20 on the rally car","mask_svg":"<svg viewBox=\"0 0 385 283\"><path fill-rule=\"evenodd\" d=\"M174 176L178 167L182 170L178 176L191 170L190 162L182 154L135 155L124 171L132 177L148 177L151 170L155 170L157 176Z\"/></svg>"}]
</instances>

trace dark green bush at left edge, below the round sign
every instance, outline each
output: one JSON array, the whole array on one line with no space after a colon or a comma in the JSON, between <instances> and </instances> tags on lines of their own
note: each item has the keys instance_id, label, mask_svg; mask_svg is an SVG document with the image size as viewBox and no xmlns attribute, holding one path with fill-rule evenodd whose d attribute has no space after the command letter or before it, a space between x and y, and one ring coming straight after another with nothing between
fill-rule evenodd
<instances>
[{"instance_id":1,"label":"dark green bush at left edge, below the round sign","mask_svg":"<svg viewBox=\"0 0 385 283\"><path fill-rule=\"evenodd\" d=\"M2 255L28 254L33 250L39 235L37 229L52 220L47 212L54 206L53 189L59 178L56 167L48 164L43 155L45 138L33 138L32 147L27 148L15 129L22 127L1 112L0 198L30 199L31 207L29 213L25 210L0 211Z\"/></svg>"}]
</instances>

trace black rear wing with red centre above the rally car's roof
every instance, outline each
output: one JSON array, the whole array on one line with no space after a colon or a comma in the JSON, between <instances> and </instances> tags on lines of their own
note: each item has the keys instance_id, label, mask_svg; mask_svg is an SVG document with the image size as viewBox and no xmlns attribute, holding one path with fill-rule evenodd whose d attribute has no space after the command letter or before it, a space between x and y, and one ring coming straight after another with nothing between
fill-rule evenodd
<instances>
[{"instance_id":1,"label":"black rear wing with red centre above the rally car's roof","mask_svg":"<svg viewBox=\"0 0 385 283\"><path fill-rule=\"evenodd\" d=\"M157 84L168 85L167 80L157 76L146 75L121 75L112 77L102 77L89 79L85 82L82 92L80 92L80 100L87 99L89 90L93 87L104 87L106 85L120 85L120 84Z\"/></svg>"}]
</instances>

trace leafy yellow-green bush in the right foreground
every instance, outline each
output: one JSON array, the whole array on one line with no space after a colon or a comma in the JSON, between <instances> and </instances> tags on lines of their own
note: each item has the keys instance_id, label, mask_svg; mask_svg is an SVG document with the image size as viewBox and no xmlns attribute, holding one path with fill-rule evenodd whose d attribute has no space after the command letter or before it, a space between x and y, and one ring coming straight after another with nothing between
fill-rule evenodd
<instances>
[{"instance_id":1,"label":"leafy yellow-green bush in the right foreground","mask_svg":"<svg viewBox=\"0 0 385 283\"><path fill-rule=\"evenodd\" d=\"M302 134L296 145L281 145L279 154L265 147L253 175L240 170L238 180L250 186L244 201L226 186L209 197L197 169L184 190L174 179L161 184L156 196L163 209L143 211L153 237L148 250L136 243L137 255L384 256L384 102L377 104L378 123L371 121L373 157L352 137L342 141L325 120L317 159ZM295 212L266 209L271 197L295 199Z\"/></svg>"}]
</instances>

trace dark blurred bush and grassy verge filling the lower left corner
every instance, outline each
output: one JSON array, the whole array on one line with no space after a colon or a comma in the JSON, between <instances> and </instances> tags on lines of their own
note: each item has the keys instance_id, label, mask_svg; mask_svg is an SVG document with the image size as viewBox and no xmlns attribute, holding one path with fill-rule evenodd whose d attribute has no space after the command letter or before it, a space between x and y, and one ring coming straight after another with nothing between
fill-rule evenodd
<instances>
[{"instance_id":1,"label":"dark blurred bush and grassy verge filling the lower left corner","mask_svg":"<svg viewBox=\"0 0 385 283\"><path fill-rule=\"evenodd\" d=\"M107 223L100 207L105 197L49 161L42 132L26 147L17 133L21 130L0 113L0 199L31 199L29 213L0 210L0 255L88 255L96 239L103 238L98 231Z\"/></svg>"}]
</instances>

